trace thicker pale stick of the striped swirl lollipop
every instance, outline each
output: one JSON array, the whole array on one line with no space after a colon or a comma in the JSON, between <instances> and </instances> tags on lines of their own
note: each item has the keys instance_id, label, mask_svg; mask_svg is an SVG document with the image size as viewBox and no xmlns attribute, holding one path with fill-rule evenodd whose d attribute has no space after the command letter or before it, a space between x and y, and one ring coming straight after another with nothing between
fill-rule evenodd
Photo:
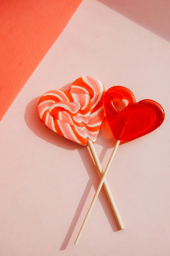
<instances>
[{"instance_id":1,"label":"thicker pale stick of the striped swirl lollipop","mask_svg":"<svg viewBox=\"0 0 170 256\"><path fill-rule=\"evenodd\" d=\"M96 151L95 151L94 145L93 145L93 143L92 143L91 140L88 140L88 146L89 146L90 151L91 151L91 153L92 153L92 157L93 157L93 160L94 160L94 162L95 162L95 164L96 164L98 173L99 173L100 177L102 178L104 172L103 172L103 170L102 170L101 163L100 163L100 161L99 161L99 159L98 159L97 153L96 153ZM109 200L109 202L110 202L112 211L113 211L113 213L114 213L114 215L115 215L115 218L116 218L116 221L117 221L117 223L118 223L118 226L119 226L120 229L124 229L124 225L123 225L123 222L122 222L122 220L121 220L120 213L119 213L119 211L118 211L118 208L117 208L117 206L116 206L115 200L114 200L114 198L113 198L113 196L112 196L111 190L110 190L110 188L109 188L109 185L108 185L106 179L105 179L103 185L104 185L104 189L105 189L106 195L107 195L107 197L108 197L108 200Z\"/></svg>"}]
</instances>

